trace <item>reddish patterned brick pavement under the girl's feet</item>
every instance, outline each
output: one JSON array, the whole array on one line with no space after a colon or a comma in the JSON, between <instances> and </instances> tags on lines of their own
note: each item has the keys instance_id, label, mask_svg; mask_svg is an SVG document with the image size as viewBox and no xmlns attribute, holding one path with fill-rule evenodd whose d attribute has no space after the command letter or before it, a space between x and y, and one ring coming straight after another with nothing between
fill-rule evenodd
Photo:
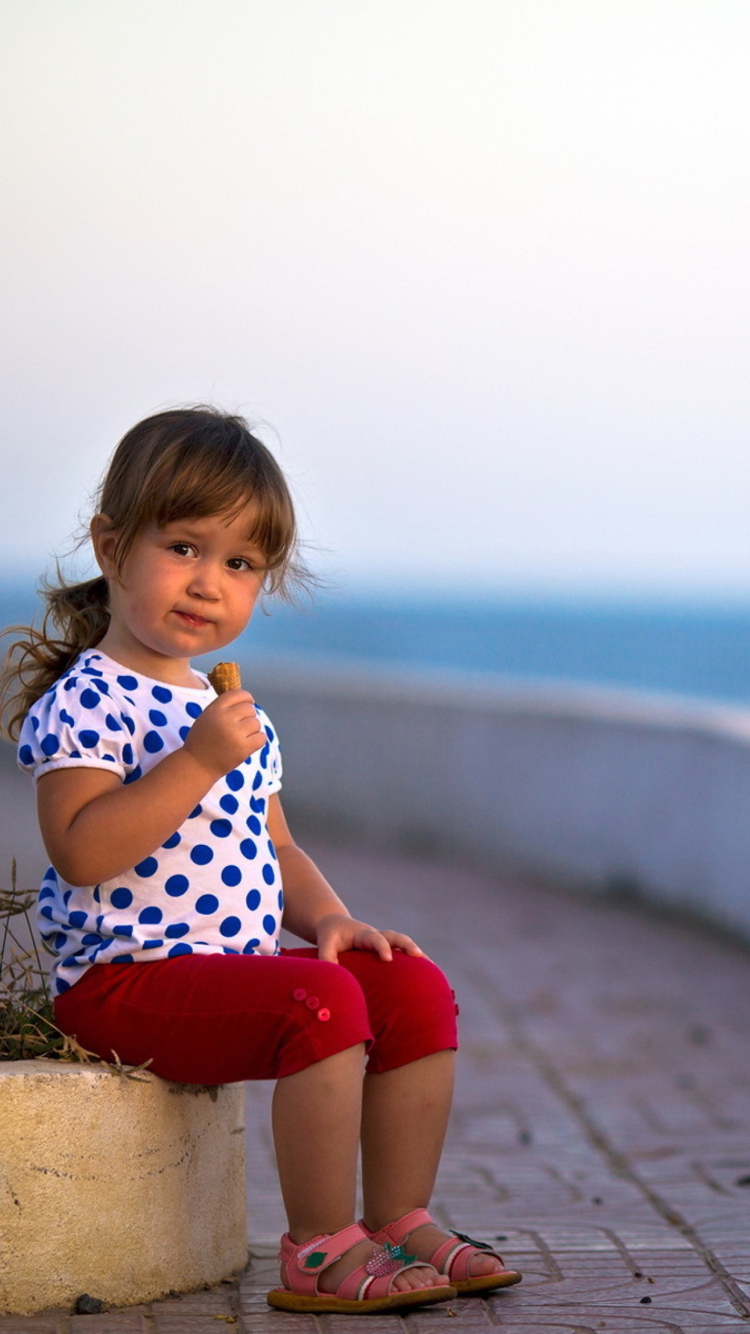
<instances>
[{"instance_id":1,"label":"reddish patterned brick pavement under the girl's feet","mask_svg":"<svg viewBox=\"0 0 750 1334\"><path fill-rule=\"evenodd\" d=\"M370 1334L723 1334L750 1327L750 954L634 907L427 862L311 848L355 911L400 926L462 1005L459 1089L434 1199L498 1239L519 1287ZM105 1315L0 1319L0 1334L336 1334L270 1311L283 1226L264 1085L248 1086L251 1263Z\"/></svg>"}]
</instances>

